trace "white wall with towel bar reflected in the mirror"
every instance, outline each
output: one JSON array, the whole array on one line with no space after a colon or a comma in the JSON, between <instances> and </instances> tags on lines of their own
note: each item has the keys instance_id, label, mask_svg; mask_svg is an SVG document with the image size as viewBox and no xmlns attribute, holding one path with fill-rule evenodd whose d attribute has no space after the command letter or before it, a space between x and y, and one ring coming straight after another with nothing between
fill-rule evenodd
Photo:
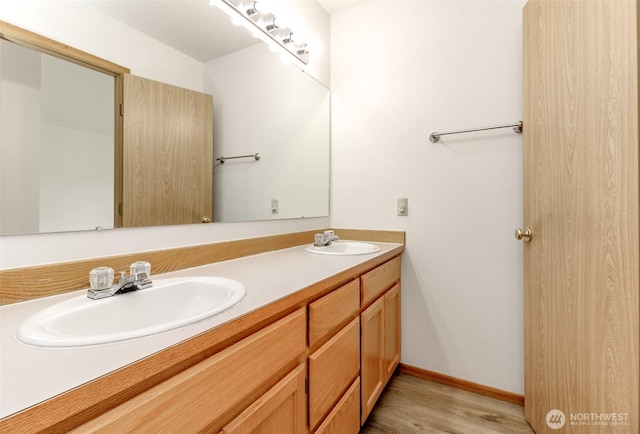
<instances>
[{"instance_id":1,"label":"white wall with towel bar reflected in the mirror","mask_svg":"<svg viewBox=\"0 0 640 434\"><path fill-rule=\"evenodd\" d=\"M329 92L258 44L205 64L214 95L214 221L328 215Z\"/></svg>"}]
</instances>

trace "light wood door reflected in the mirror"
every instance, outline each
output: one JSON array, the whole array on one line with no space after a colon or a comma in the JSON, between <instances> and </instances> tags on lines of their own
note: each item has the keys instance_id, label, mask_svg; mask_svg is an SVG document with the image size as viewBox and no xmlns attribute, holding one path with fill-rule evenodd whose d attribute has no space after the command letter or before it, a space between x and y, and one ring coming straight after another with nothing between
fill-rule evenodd
<instances>
[{"instance_id":1,"label":"light wood door reflected in the mirror","mask_svg":"<svg viewBox=\"0 0 640 434\"><path fill-rule=\"evenodd\" d=\"M201 223L213 212L213 99L125 75L122 226Z\"/></svg>"}]
</instances>

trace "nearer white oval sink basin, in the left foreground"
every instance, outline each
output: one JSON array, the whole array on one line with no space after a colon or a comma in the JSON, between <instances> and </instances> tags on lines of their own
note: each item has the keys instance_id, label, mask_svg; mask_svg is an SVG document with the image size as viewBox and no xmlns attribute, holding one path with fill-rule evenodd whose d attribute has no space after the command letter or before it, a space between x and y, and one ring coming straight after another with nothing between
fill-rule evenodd
<instances>
[{"instance_id":1,"label":"nearer white oval sink basin, in the left foreground","mask_svg":"<svg viewBox=\"0 0 640 434\"><path fill-rule=\"evenodd\" d=\"M86 294L62 301L24 321L16 333L40 347L117 342L172 330L220 313L245 295L223 277L152 279L153 287L101 300Z\"/></svg>"}]
</instances>

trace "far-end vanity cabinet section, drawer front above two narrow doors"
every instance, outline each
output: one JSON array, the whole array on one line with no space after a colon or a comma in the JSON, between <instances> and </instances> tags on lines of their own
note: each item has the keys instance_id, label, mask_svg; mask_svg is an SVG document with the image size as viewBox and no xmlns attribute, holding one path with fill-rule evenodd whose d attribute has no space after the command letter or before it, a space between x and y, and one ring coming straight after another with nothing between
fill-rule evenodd
<instances>
[{"instance_id":1,"label":"far-end vanity cabinet section, drawer front above two narrow doors","mask_svg":"<svg viewBox=\"0 0 640 434\"><path fill-rule=\"evenodd\" d=\"M364 424L400 362L400 257L364 274L361 322L361 415ZM376 299L377 297L377 299Z\"/></svg>"}]
</instances>

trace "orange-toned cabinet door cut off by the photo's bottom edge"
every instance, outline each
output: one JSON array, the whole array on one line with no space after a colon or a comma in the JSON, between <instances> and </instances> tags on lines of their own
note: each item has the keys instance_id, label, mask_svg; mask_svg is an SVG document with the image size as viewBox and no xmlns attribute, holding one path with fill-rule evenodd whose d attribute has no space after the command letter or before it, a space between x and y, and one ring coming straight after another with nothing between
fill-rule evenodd
<instances>
[{"instance_id":1,"label":"orange-toned cabinet door cut off by the photo's bottom edge","mask_svg":"<svg viewBox=\"0 0 640 434\"><path fill-rule=\"evenodd\" d=\"M306 367L298 366L243 411L224 434L302 434L307 432Z\"/></svg>"}]
</instances>

